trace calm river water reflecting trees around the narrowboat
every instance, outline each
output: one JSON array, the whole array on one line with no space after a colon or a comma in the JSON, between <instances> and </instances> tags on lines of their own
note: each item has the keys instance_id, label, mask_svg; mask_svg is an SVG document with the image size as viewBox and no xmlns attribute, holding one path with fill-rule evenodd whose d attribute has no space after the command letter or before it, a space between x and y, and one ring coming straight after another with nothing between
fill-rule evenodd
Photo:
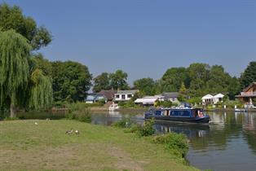
<instances>
[{"instance_id":1,"label":"calm river water reflecting trees around the narrowboat","mask_svg":"<svg viewBox=\"0 0 256 171\"><path fill-rule=\"evenodd\" d=\"M187 159L199 169L215 171L256 170L256 112L210 112L210 125L157 122L158 133L174 131L190 140ZM63 115L27 114L25 118L59 119ZM95 112L92 123L111 125L123 117L143 124L142 112Z\"/></svg>"}]
</instances>

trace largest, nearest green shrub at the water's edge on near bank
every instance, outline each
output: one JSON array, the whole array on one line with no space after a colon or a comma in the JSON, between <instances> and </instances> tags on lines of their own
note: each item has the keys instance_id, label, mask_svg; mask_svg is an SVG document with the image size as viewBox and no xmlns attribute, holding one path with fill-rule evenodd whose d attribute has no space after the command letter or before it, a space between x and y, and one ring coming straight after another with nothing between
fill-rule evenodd
<instances>
[{"instance_id":1,"label":"largest, nearest green shrub at the water's edge on near bank","mask_svg":"<svg viewBox=\"0 0 256 171\"><path fill-rule=\"evenodd\" d=\"M163 144L166 150L176 156L184 157L188 152L188 138L184 134L169 133L158 135L153 138L153 142Z\"/></svg>"}]
</instances>

